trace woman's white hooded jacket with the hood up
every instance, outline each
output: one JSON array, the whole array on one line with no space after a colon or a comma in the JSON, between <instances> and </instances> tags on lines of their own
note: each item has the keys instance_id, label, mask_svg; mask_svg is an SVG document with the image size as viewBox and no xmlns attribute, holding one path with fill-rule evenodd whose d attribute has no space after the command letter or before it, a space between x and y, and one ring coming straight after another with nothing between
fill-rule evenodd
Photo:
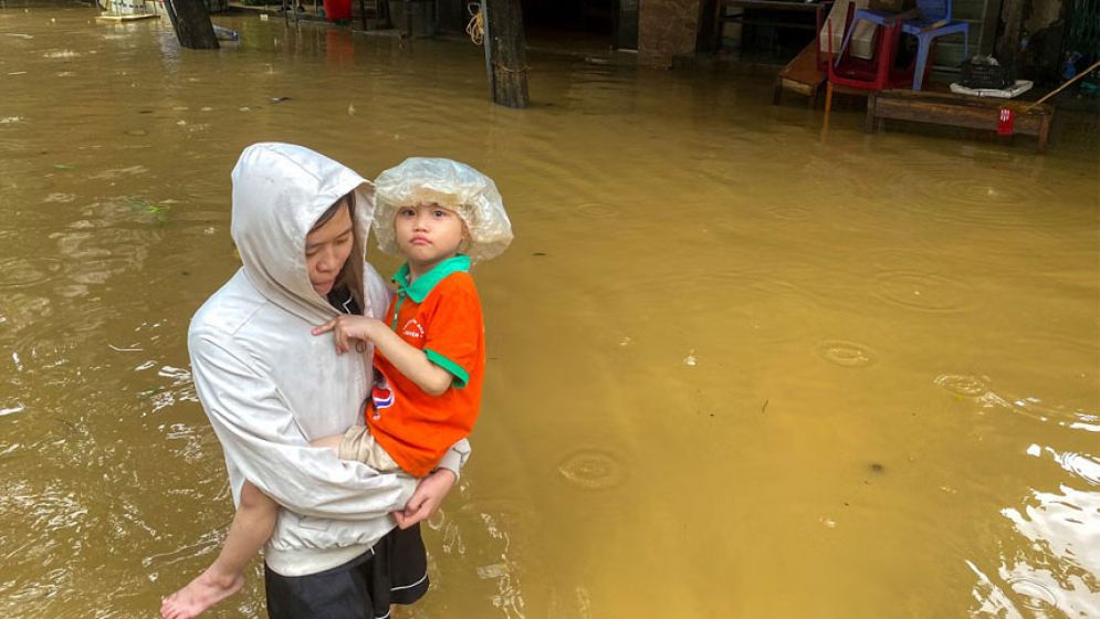
<instances>
[{"instance_id":1,"label":"woman's white hooded jacket with the hood up","mask_svg":"<svg viewBox=\"0 0 1100 619\"><path fill-rule=\"evenodd\" d=\"M370 388L370 350L337 355L332 335L310 333L337 312L310 284L305 238L353 190L365 248L369 182L306 148L247 148L233 169L232 213L244 265L199 308L188 333L196 389L224 449L234 502L249 480L284 507L265 549L269 567L284 576L316 574L366 552L394 527L389 513L416 486L308 445L362 424ZM364 266L364 314L378 317L390 293ZM441 466L458 473L468 455L463 440Z\"/></svg>"}]
</instances>

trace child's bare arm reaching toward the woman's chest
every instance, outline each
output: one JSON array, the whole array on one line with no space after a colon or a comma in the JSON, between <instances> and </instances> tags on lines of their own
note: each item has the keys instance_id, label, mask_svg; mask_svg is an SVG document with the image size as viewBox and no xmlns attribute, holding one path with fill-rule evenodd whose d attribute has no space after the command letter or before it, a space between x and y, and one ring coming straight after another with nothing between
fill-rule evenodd
<instances>
[{"instance_id":1,"label":"child's bare arm reaching toward the woman's chest","mask_svg":"<svg viewBox=\"0 0 1100 619\"><path fill-rule=\"evenodd\" d=\"M339 353L350 350L353 339L373 342L401 375L432 396L441 395L454 379L451 373L429 360L423 350L409 345L376 318L344 314L313 329L313 335L328 332L333 332Z\"/></svg>"}]
</instances>

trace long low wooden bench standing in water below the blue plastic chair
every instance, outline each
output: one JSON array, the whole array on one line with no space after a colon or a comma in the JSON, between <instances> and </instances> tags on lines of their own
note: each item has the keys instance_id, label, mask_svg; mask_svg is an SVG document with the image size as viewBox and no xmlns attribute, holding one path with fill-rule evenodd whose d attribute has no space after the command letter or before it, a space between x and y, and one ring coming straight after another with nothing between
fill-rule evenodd
<instances>
[{"instance_id":1,"label":"long low wooden bench standing in water below the blue plastic chair","mask_svg":"<svg viewBox=\"0 0 1100 619\"><path fill-rule=\"evenodd\" d=\"M881 130L889 118L995 132L1001 109L1008 108L1016 113L1013 133L1038 137L1038 151L1041 155L1047 151L1055 108L1040 104L1026 109L1028 105L1030 104L1027 102L955 93L881 91L872 93L867 99L865 128L868 133Z\"/></svg>"}]
</instances>

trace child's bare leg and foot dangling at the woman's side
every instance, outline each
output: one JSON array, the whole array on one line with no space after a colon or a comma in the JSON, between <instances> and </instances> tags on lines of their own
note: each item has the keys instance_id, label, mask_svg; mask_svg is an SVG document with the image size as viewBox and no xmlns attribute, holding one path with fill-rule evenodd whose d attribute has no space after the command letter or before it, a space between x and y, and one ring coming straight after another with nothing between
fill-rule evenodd
<instances>
[{"instance_id":1,"label":"child's bare leg and foot dangling at the woman's side","mask_svg":"<svg viewBox=\"0 0 1100 619\"><path fill-rule=\"evenodd\" d=\"M244 482L241 504L229 527L218 558L186 587L160 605L164 619L190 619L244 586L241 574L275 529L279 504L254 485Z\"/></svg>"}]
</instances>

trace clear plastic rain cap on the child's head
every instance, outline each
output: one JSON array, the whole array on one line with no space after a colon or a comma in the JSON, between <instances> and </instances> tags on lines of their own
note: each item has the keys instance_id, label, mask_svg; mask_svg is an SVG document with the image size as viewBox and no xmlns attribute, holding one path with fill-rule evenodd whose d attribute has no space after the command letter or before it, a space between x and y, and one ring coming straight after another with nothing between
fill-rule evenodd
<instances>
[{"instance_id":1,"label":"clear plastic rain cap on the child's head","mask_svg":"<svg viewBox=\"0 0 1100 619\"><path fill-rule=\"evenodd\" d=\"M451 159L410 157L375 180L375 237L378 248L400 255L394 234L397 209L439 204L462 218L470 241L462 253L479 262L496 258L512 242L512 222L491 178Z\"/></svg>"}]
</instances>

